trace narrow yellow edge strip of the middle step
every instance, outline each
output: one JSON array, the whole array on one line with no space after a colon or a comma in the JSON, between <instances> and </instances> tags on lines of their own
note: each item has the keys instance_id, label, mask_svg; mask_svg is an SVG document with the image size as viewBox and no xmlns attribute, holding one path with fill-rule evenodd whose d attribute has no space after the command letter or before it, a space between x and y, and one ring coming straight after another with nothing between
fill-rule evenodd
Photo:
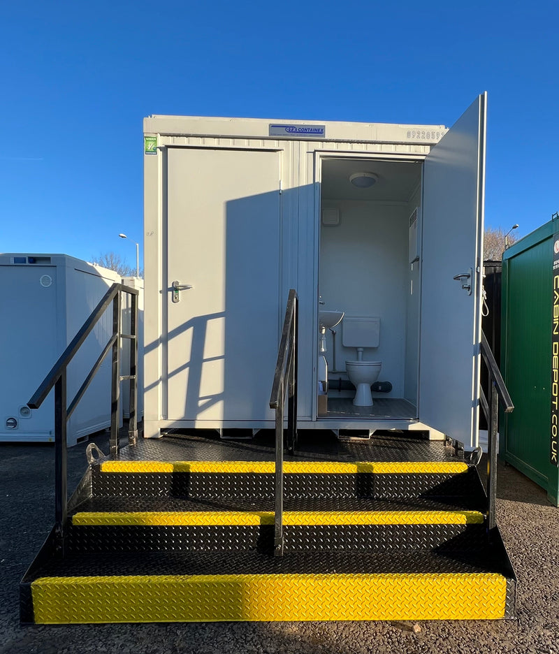
<instances>
[{"instance_id":1,"label":"narrow yellow edge strip of the middle step","mask_svg":"<svg viewBox=\"0 0 559 654\"><path fill-rule=\"evenodd\" d=\"M285 511L284 525L465 525L483 523L479 511ZM273 511L84 511L73 525L273 525Z\"/></svg>"}]
</instances>

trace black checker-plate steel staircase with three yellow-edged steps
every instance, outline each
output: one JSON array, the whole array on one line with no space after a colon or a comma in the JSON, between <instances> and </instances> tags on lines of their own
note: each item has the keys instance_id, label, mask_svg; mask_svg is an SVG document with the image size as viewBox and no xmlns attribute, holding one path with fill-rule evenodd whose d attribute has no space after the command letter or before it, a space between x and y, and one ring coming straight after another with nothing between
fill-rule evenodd
<instances>
[{"instance_id":1,"label":"black checker-plate steel staircase with three yellow-edged steps","mask_svg":"<svg viewBox=\"0 0 559 654\"><path fill-rule=\"evenodd\" d=\"M451 439L297 433L296 336L293 291L275 433L132 437L121 449L112 439L110 456L90 448L67 509L58 489L57 525L22 580L22 622L514 616L516 578L495 525L495 432L488 495ZM496 429L498 398L509 405L490 370Z\"/></svg>"}]
</instances>

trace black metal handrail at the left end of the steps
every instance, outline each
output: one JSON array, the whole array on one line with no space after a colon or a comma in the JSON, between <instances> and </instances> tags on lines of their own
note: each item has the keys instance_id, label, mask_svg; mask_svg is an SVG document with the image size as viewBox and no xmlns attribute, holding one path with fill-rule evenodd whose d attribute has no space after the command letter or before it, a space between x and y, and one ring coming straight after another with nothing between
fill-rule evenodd
<instances>
[{"instance_id":1,"label":"black metal handrail at the left end of the steps","mask_svg":"<svg viewBox=\"0 0 559 654\"><path fill-rule=\"evenodd\" d=\"M131 321L130 334L121 333L121 293L129 293L131 296ZM92 369L85 377L78 393L70 402L68 407L67 391L67 368L76 352L80 349L87 336L99 322L99 319L106 312L112 303L112 336L103 348L101 355L92 366ZM66 443L66 429L68 418L73 413L78 402L82 399L85 391L91 384L96 372L101 368L103 360L112 351L111 371L111 410L110 410L110 453L116 456L118 453L118 427L119 427L119 382L120 377L120 341L122 337L131 339L130 348L130 419L129 419L129 443L135 444L138 438L138 419L136 407L138 404L138 290L132 289L124 284L112 284L110 289L99 300L89 318L82 325L78 333L73 337L68 347L59 356L58 361L52 366L48 375L43 379L31 400L27 402L30 409L41 407L45 398L55 388L55 548L64 554L64 536L66 518L68 516L68 453Z\"/></svg>"}]
</instances>

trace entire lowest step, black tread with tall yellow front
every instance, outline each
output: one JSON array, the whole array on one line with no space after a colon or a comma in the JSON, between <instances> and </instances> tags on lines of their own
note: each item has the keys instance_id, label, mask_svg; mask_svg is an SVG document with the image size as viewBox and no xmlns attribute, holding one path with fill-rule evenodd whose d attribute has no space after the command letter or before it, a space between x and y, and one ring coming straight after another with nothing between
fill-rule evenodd
<instances>
[{"instance_id":1,"label":"entire lowest step, black tread with tall yellow front","mask_svg":"<svg viewBox=\"0 0 559 654\"><path fill-rule=\"evenodd\" d=\"M68 555L31 593L36 623L502 618L514 579L500 555Z\"/></svg>"}]
</instances>

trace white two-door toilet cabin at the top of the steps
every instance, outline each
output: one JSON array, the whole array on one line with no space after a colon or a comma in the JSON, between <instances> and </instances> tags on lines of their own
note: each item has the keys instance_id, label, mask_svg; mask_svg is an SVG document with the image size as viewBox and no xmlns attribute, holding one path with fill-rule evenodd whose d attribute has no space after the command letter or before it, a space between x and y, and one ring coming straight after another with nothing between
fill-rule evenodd
<instances>
[{"instance_id":1,"label":"white two-door toilet cabin at the top of the steps","mask_svg":"<svg viewBox=\"0 0 559 654\"><path fill-rule=\"evenodd\" d=\"M145 435L273 428L293 288L298 428L428 429L475 446L485 125L486 94L451 129L146 118ZM356 187L356 173L375 183ZM351 402L342 321L335 361L327 330L319 412L319 301L379 319L363 358L391 391L370 409Z\"/></svg>"}]
</instances>

